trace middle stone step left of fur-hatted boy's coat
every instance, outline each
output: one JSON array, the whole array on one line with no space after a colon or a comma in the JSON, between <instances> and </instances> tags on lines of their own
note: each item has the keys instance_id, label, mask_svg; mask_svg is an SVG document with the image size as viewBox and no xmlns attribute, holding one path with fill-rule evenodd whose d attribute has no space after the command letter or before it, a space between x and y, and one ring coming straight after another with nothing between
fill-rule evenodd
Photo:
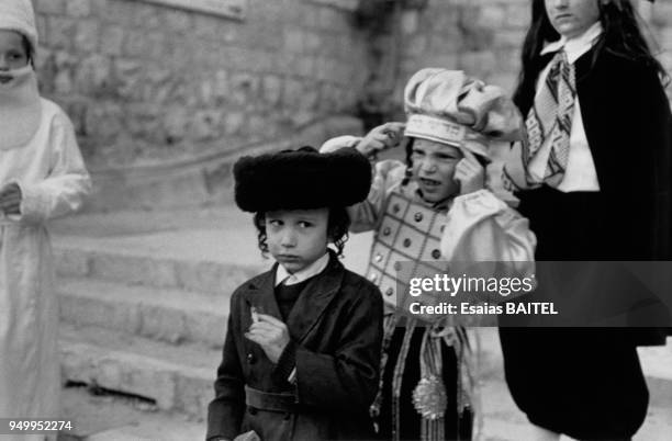
<instances>
[{"instance_id":1,"label":"middle stone step left of fur-hatted boy's coat","mask_svg":"<svg viewBox=\"0 0 672 441\"><path fill-rule=\"evenodd\" d=\"M124 285L92 279L60 279L60 317L172 344L200 342L221 348L229 293L219 296Z\"/></svg>"}]
</instances>

